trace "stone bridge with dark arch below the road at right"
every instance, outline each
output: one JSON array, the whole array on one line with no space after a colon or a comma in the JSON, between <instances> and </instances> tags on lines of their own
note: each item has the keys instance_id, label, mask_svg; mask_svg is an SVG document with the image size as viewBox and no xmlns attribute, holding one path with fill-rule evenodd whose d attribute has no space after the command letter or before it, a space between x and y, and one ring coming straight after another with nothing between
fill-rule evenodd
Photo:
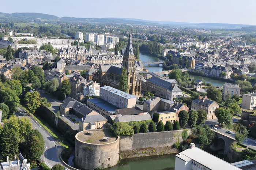
<instances>
[{"instance_id":1,"label":"stone bridge with dark arch below the road at right","mask_svg":"<svg viewBox=\"0 0 256 170\"><path fill-rule=\"evenodd\" d=\"M224 149L224 154L227 154L227 152L229 151L230 144L236 141L236 139L232 136L226 135L225 133L216 131L214 129L211 129L211 130L216 132L217 138L218 138L218 146L215 146L214 149L215 150Z\"/></svg>"}]
</instances>

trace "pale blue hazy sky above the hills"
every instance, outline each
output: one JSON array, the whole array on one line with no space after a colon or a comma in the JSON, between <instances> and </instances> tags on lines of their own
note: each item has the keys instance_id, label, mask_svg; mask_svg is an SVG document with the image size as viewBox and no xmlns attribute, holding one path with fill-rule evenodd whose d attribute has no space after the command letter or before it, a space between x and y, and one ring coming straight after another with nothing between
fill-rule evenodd
<instances>
[{"instance_id":1,"label":"pale blue hazy sky above the hills","mask_svg":"<svg viewBox=\"0 0 256 170\"><path fill-rule=\"evenodd\" d=\"M0 12L256 25L256 0L2 0Z\"/></svg>"}]
</instances>

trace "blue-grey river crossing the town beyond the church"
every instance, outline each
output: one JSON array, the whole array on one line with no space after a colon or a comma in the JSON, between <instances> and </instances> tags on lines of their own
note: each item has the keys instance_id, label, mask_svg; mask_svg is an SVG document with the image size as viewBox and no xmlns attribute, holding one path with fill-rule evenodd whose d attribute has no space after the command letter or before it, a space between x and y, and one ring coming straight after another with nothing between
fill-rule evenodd
<instances>
[{"instance_id":1,"label":"blue-grey river crossing the town beyond the church","mask_svg":"<svg viewBox=\"0 0 256 170\"><path fill-rule=\"evenodd\" d=\"M146 53L140 53L140 60L141 61L147 62L148 59L150 59L150 61L158 61L158 57L155 57L153 55L146 54ZM161 62L164 61L160 58L159 58L159 60ZM159 64L159 66L157 64L150 64L150 66L148 66L148 64L144 64L144 68L148 69L149 72L164 71L162 66L163 66L162 64ZM222 84L225 84L225 81L214 80L214 79L211 79L211 78L208 78L208 77L203 77L203 76L189 75L189 79L199 79L199 80L204 79L206 81L206 83L211 83L212 86L222 86Z\"/></svg>"}]
</instances>

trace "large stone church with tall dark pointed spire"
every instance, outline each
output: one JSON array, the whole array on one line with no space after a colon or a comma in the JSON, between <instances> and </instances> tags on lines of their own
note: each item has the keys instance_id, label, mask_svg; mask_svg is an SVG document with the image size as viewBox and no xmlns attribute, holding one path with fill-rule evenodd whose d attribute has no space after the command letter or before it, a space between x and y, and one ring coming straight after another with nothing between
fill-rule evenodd
<instances>
[{"instance_id":1,"label":"large stone church with tall dark pointed spire","mask_svg":"<svg viewBox=\"0 0 256 170\"><path fill-rule=\"evenodd\" d=\"M130 35L128 43L123 55L123 62L121 65L101 65L99 71L94 74L94 81L99 83L101 86L111 86L118 88L120 81L122 69L125 68L128 76L128 92L131 95L140 95L141 89L141 75L135 72L136 60L134 57L134 51L132 48L132 30L130 30Z\"/></svg>"}]
</instances>

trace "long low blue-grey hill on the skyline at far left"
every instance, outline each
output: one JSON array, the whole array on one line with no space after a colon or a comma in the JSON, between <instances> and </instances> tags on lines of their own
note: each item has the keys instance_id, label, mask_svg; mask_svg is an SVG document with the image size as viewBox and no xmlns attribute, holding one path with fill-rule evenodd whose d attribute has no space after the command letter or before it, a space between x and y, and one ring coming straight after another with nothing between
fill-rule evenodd
<instances>
[{"instance_id":1,"label":"long low blue-grey hill on the skyline at far left","mask_svg":"<svg viewBox=\"0 0 256 170\"><path fill-rule=\"evenodd\" d=\"M41 13L33 13L33 12L16 12L12 14L6 14L3 12L0 12L0 15L4 16L10 16L10 17L15 17L15 18L25 18L25 19L35 19L35 18L40 18L40 19L47 19L47 20L59 20L60 18L55 16L55 15L49 15L49 14L41 14Z\"/></svg>"}]
</instances>

